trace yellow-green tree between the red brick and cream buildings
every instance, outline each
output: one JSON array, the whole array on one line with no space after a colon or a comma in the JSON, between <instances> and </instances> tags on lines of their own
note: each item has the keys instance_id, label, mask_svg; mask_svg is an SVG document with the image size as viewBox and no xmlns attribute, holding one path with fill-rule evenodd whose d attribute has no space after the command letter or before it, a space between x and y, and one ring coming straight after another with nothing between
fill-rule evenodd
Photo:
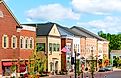
<instances>
[{"instance_id":1,"label":"yellow-green tree between the red brick and cream buildings","mask_svg":"<svg viewBox=\"0 0 121 78\"><path fill-rule=\"evenodd\" d=\"M42 75L45 66L46 66L46 56L44 52L36 52L33 51L32 56L29 58L29 74L35 75L40 74Z\"/></svg>"}]
</instances>

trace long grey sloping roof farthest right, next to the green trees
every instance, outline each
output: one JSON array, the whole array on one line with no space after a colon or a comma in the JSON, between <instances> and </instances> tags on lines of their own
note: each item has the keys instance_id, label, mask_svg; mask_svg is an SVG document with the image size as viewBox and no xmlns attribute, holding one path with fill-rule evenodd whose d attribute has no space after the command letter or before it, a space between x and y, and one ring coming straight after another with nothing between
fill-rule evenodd
<instances>
[{"instance_id":1,"label":"long grey sloping roof farthest right, next to the green trees","mask_svg":"<svg viewBox=\"0 0 121 78\"><path fill-rule=\"evenodd\" d=\"M82 27L73 26L71 29L73 29L73 28L75 28L75 29L77 29L77 30L80 30L80 31L82 31L82 32L84 32L84 33L86 33L86 34L89 34L89 35L91 35L92 37L97 38L98 40L107 41L106 39L104 39L104 38L102 38L102 37L100 37L100 36L98 36L98 35L96 35L96 34L90 32L90 31L88 31L88 30L86 30L86 29L84 29L84 28L82 28ZM79 32L78 32L78 33L79 33ZM81 34L81 33L80 33L80 34Z\"/></svg>"}]
</instances>

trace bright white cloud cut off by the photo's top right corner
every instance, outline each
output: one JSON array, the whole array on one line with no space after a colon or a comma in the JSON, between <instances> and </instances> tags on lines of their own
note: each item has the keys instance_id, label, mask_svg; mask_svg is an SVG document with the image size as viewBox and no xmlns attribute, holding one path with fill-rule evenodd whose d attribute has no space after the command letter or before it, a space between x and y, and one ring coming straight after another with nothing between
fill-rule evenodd
<instances>
[{"instance_id":1,"label":"bright white cloud cut off by the photo's top right corner","mask_svg":"<svg viewBox=\"0 0 121 78\"><path fill-rule=\"evenodd\" d=\"M72 0L71 4L79 12L98 15L121 12L121 0Z\"/></svg>"}]
</instances>

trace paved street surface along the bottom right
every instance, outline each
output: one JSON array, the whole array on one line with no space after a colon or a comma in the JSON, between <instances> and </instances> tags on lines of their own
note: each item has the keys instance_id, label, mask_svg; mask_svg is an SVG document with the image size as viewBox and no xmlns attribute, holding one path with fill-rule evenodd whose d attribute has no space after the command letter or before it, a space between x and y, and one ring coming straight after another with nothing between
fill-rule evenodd
<instances>
[{"instance_id":1,"label":"paved street surface along the bottom right","mask_svg":"<svg viewBox=\"0 0 121 78\"><path fill-rule=\"evenodd\" d=\"M51 76L51 77L46 77L46 78L74 78L74 74L73 75L56 75L56 76ZM82 76L80 75L78 78L82 78ZM83 78L91 78L91 74L84 73ZM94 78L121 78L121 70L120 71L118 70L118 71L96 72L94 75Z\"/></svg>"}]
</instances>

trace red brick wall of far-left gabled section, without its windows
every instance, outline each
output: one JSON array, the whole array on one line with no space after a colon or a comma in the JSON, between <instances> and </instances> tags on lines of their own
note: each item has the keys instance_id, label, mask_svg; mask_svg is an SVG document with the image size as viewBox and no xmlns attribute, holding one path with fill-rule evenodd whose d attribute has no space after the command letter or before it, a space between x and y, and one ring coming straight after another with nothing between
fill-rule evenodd
<instances>
[{"instance_id":1,"label":"red brick wall of far-left gabled section, without its windows","mask_svg":"<svg viewBox=\"0 0 121 78\"><path fill-rule=\"evenodd\" d=\"M11 37L15 35L19 38L19 33L16 32L16 26L19 26L15 19L8 12L3 3L0 3L0 11L3 12L3 17L0 17L0 59L12 59L19 56L19 49L11 48ZM2 48L2 36L6 34L9 37L9 48Z\"/></svg>"}]
</instances>

